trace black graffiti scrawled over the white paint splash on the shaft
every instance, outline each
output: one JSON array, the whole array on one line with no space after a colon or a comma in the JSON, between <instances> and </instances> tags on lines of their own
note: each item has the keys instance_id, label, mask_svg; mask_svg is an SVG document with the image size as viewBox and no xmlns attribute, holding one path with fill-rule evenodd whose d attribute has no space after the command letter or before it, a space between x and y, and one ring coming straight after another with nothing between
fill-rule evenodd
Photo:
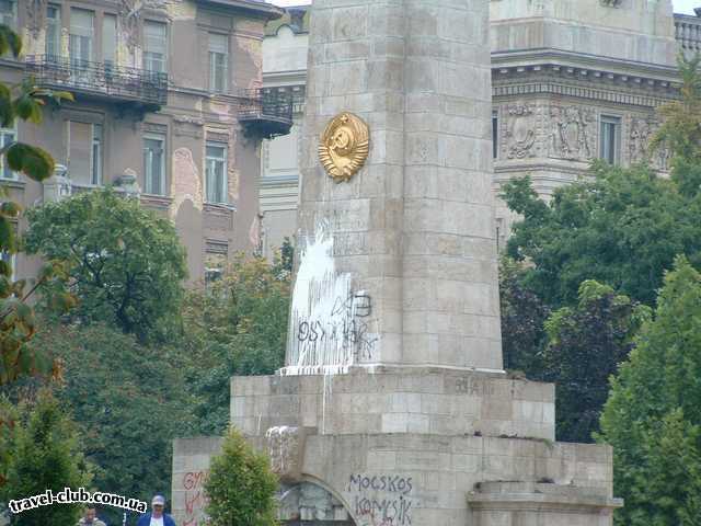
<instances>
[{"instance_id":1,"label":"black graffiti scrawled over the white paint splash on the shaft","mask_svg":"<svg viewBox=\"0 0 701 526\"><path fill-rule=\"evenodd\" d=\"M371 358L379 340L370 333L370 324L366 321L371 315L372 300L367 294L336 297L329 317L298 322L297 340L307 350L325 345L352 347L357 353L356 358Z\"/></svg>"}]
</instances>

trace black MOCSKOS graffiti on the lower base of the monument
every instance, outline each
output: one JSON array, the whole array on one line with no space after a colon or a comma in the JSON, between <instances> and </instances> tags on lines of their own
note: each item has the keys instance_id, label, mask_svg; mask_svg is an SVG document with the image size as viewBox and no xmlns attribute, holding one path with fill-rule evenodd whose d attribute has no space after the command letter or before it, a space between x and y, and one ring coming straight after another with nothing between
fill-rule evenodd
<instances>
[{"instance_id":1,"label":"black MOCSKOS graffiti on the lower base of the monument","mask_svg":"<svg viewBox=\"0 0 701 526\"><path fill-rule=\"evenodd\" d=\"M352 474L346 491L361 526L411 526L413 489L411 477Z\"/></svg>"}]
</instances>

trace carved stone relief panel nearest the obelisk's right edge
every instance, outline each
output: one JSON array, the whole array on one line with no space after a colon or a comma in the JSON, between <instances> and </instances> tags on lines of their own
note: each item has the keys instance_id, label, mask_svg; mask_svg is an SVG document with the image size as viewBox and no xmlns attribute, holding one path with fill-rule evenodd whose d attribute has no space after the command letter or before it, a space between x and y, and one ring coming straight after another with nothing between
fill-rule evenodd
<instances>
[{"instance_id":1,"label":"carved stone relief panel nearest the obelisk's right edge","mask_svg":"<svg viewBox=\"0 0 701 526\"><path fill-rule=\"evenodd\" d=\"M542 108L533 103L516 103L504 107L502 114L502 152L506 159L538 157Z\"/></svg>"}]
</instances>

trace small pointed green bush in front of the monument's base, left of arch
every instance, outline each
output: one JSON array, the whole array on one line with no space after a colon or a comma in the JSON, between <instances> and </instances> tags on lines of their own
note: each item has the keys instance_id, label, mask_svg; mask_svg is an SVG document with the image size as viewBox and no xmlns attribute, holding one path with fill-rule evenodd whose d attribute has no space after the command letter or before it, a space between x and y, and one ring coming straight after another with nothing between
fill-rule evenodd
<instances>
[{"instance_id":1,"label":"small pointed green bush in front of the monument's base, left of arch","mask_svg":"<svg viewBox=\"0 0 701 526\"><path fill-rule=\"evenodd\" d=\"M211 459L205 492L209 526L277 524L277 477L269 460L257 454L235 430L225 438L221 455Z\"/></svg>"}]
</instances>

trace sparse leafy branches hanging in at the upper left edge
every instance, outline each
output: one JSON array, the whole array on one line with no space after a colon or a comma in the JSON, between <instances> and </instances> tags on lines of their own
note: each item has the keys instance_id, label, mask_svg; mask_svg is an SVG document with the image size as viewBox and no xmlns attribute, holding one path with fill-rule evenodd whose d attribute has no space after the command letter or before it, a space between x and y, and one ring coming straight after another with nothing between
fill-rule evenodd
<instances>
[{"instance_id":1,"label":"sparse leafy branches hanging in at the upper left edge","mask_svg":"<svg viewBox=\"0 0 701 526\"><path fill-rule=\"evenodd\" d=\"M0 24L0 57L11 54L18 58L22 53L22 39L9 26ZM42 122L42 106L47 102L58 104L72 100L66 92L51 92L34 85L26 79L19 85L0 82L0 126L11 128L18 119L33 124ZM46 151L24 142L12 141L0 149L3 162L31 180L43 181L54 172L54 160ZM18 203L9 198L5 188L0 188L0 252L15 254L20 250L15 224L21 214ZM58 368L44 353L32 353L26 343L36 331L34 311L27 300L37 286L53 282L60 266L47 262L28 290L24 279L13 281L12 268L0 261L0 386L23 375L57 375ZM72 298L54 287L54 300L68 308Z\"/></svg>"}]
</instances>

